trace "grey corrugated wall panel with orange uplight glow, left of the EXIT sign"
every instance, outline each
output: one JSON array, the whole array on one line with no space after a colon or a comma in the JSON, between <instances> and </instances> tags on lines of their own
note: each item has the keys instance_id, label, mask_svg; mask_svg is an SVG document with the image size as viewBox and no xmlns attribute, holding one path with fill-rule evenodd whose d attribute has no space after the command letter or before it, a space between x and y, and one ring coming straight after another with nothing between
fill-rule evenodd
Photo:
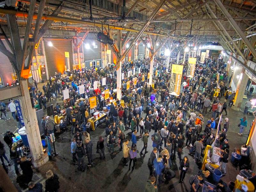
<instances>
[{"instance_id":1,"label":"grey corrugated wall panel with orange uplight glow, left of the EXIT sign","mask_svg":"<svg viewBox=\"0 0 256 192\"><path fill-rule=\"evenodd\" d=\"M48 42L52 42L52 47ZM69 52L70 69L73 69L72 39L51 39L44 38L45 56L49 76L55 72L65 70L65 52Z\"/></svg>"}]
</instances>

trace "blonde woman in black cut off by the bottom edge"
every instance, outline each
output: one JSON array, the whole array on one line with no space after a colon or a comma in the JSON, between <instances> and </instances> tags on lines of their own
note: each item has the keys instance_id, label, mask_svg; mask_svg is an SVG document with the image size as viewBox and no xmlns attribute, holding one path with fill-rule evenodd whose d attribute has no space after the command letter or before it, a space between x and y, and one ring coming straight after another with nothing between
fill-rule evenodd
<instances>
[{"instance_id":1,"label":"blonde woman in black cut off by the bottom edge","mask_svg":"<svg viewBox=\"0 0 256 192\"><path fill-rule=\"evenodd\" d=\"M46 172L45 192L57 192L60 188L59 177L52 170Z\"/></svg>"}]
</instances>

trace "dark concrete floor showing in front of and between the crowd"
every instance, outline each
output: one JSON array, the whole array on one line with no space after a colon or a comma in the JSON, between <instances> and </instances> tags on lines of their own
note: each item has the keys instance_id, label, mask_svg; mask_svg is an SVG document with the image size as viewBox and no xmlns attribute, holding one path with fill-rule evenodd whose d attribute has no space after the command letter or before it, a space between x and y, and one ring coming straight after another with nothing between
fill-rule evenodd
<instances>
[{"instance_id":1,"label":"dark concrete floor showing in front of and between the crowd","mask_svg":"<svg viewBox=\"0 0 256 192\"><path fill-rule=\"evenodd\" d=\"M39 85L39 89L42 85ZM223 99L223 98L222 98ZM59 97L57 101L61 101ZM56 100L52 103L56 103ZM225 114L225 113L224 113ZM8 112L8 115L11 117L11 113ZM143 114L143 116L145 116ZM204 118L210 119L212 113L208 113ZM228 109L230 127L228 130L228 139L230 145L230 156L231 152L234 151L235 147L240 147L243 145L247 138L247 133L249 127L244 131L243 136L237 134L239 123L239 118L242 118L244 115L241 111L234 111L233 109ZM252 115L246 115L248 120L248 125L251 124L254 117ZM204 129L205 125L203 126ZM153 150L152 140L148 140L148 151L145 156L140 156L138 154L137 163L133 171L128 171L128 167L122 166L122 157L123 152L118 151L118 147L115 147L117 154L110 156L108 150L105 149L106 161L101 161L99 154L96 153L96 144L98 141L98 136L105 135L104 126L97 128L96 131L90 132L91 140L93 142L93 158L94 164L92 167L85 169L85 172L77 171L77 165L72 164L72 155L70 152L71 144L71 132L63 132L60 135L56 135L56 152L59 153L57 157L53 157L52 161L49 161L44 166L35 170L33 179L36 182L41 182L44 186L45 184L45 172L51 169L54 173L58 174L60 177L60 191L61 192L71 192L74 190L84 190L84 191L143 191L145 188L145 183L149 178L149 169L147 166L150 152ZM12 132L17 131L17 126L15 120L11 119L9 121L0 120L0 132L4 133L6 130L11 130ZM125 131L126 138L131 138L131 131ZM150 135L154 133L154 130L150 132ZM128 135L128 136L127 136ZM2 139L1 139L2 140ZM3 141L3 140L2 140ZM131 146L131 141L129 143ZM6 146L5 146L6 147ZM141 150L143 147L143 142L141 139L138 140L137 148ZM189 177L191 174L197 174L199 171L198 165L194 163L193 157L188 155L188 148L183 149L183 156L188 156L190 161L190 168L185 177L184 183L179 183L179 158L176 157L176 161L173 163L173 170L176 173L175 178L173 178L169 184L161 184L159 191L171 191L171 192L183 192L190 191ZM9 157L9 149L6 147L7 156ZM88 163L87 158L84 158L85 164ZM227 165L227 175L223 178L225 182L234 181L236 175L239 174L239 170L236 170L235 167L229 162ZM9 167L9 173L11 180L14 185L17 186L19 191L22 191L19 185L16 183L16 174L14 171L13 164ZM23 190L26 191L26 190Z\"/></svg>"}]
</instances>

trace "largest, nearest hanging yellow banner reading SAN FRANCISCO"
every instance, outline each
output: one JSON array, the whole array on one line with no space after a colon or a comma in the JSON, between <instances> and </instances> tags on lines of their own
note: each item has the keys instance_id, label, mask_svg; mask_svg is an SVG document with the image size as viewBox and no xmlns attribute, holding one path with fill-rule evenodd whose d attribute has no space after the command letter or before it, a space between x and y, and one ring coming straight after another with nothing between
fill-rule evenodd
<instances>
[{"instance_id":1,"label":"largest, nearest hanging yellow banner reading SAN FRANCISCO","mask_svg":"<svg viewBox=\"0 0 256 192\"><path fill-rule=\"evenodd\" d=\"M171 95L180 95L180 84L182 80L182 71L183 65L172 65L172 76L170 83L170 94Z\"/></svg>"}]
</instances>

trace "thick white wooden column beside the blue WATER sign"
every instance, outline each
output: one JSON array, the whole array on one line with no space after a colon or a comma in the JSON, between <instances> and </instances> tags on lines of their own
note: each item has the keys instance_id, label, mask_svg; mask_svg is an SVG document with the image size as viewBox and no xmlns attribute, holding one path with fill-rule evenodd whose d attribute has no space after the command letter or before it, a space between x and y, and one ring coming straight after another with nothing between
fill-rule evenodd
<instances>
[{"instance_id":1,"label":"thick white wooden column beside the blue WATER sign","mask_svg":"<svg viewBox=\"0 0 256 192\"><path fill-rule=\"evenodd\" d=\"M49 160L49 157L48 154L44 153L43 151L38 122L36 118L36 110L33 109L31 105L28 91L28 81L21 80L20 87L23 95L21 97L20 106L26 127L29 149L34 160L33 165L35 167L40 167Z\"/></svg>"}]
</instances>

